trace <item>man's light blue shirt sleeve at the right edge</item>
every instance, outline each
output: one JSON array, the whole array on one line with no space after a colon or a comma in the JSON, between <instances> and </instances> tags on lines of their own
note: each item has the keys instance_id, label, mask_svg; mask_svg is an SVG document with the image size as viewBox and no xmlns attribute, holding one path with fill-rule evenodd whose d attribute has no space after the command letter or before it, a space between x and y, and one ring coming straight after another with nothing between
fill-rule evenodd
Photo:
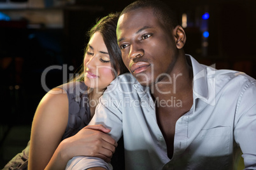
<instances>
[{"instance_id":1,"label":"man's light blue shirt sleeve at the right edge","mask_svg":"<svg viewBox=\"0 0 256 170\"><path fill-rule=\"evenodd\" d=\"M236 109L234 139L243 152L245 169L256 169L256 86L248 82Z\"/></svg>"}]
</instances>

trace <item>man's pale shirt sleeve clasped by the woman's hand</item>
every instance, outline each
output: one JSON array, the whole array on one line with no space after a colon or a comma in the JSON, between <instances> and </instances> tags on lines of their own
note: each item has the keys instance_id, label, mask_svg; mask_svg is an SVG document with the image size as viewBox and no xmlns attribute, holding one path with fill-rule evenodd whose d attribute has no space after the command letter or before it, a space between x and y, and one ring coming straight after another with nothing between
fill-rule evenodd
<instances>
[{"instance_id":1,"label":"man's pale shirt sleeve clasped by the woman's hand","mask_svg":"<svg viewBox=\"0 0 256 170\"><path fill-rule=\"evenodd\" d=\"M112 96L115 96L115 98ZM120 110L120 102L118 102L122 100L118 100L119 96L117 91L111 91L111 93L105 91L96 107L96 113L89 123L89 125L103 124L106 128L111 129L109 134L116 141L122 136L122 112ZM103 159L78 156L68 161L66 170L89 169L90 167L112 169L111 164L106 163Z\"/></svg>"}]
</instances>

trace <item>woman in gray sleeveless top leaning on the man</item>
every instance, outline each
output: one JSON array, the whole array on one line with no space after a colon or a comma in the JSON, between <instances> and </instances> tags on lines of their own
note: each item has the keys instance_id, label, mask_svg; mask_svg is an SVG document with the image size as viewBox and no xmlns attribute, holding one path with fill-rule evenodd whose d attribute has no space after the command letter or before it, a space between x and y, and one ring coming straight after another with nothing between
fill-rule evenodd
<instances>
[{"instance_id":1,"label":"woman in gray sleeveless top leaning on the man","mask_svg":"<svg viewBox=\"0 0 256 170\"><path fill-rule=\"evenodd\" d=\"M29 149L28 169L64 169L76 155L110 162L117 146L106 134L110 129L87 124L104 89L117 75L127 72L115 35L117 20L118 14L110 14L92 27L80 76L52 89L39 103L32 122L31 144L21 154L22 159L27 159ZM27 169L26 162L18 165L20 169ZM11 164L13 161L6 169Z\"/></svg>"}]
</instances>

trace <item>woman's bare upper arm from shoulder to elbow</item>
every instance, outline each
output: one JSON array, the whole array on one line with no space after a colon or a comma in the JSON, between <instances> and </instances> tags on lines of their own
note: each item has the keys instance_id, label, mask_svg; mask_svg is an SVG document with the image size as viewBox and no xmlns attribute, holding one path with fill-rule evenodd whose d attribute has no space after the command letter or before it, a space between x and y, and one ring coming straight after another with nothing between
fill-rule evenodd
<instances>
[{"instance_id":1,"label":"woman's bare upper arm from shoulder to elbow","mask_svg":"<svg viewBox=\"0 0 256 170\"><path fill-rule=\"evenodd\" d=\"M29 169L45 169L61 141L67 124L68 97L64 90L53 89L40 101L34 115Z\"/></svg>"}]
</instances>

